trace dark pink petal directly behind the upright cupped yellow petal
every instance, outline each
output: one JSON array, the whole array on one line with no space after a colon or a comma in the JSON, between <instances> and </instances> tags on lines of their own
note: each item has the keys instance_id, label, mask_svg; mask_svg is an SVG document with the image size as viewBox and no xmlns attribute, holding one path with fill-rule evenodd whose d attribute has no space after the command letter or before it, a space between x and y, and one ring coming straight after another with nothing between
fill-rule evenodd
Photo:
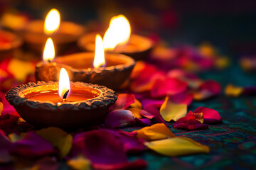
<instances>
[{"instance_id":1,"label":"dark pink petal directly behind the upright cupped yellow petal","mask_svg":"<svg viewBox=\"0 0 256 170\"><path fill-rule=\"evenodd\" d=\"M193 101L193 94L189 94L188 92L181 92L180 94L170 95L169 99L177 104L186 104L189 106Z\"/></svg>"}]
</instances>

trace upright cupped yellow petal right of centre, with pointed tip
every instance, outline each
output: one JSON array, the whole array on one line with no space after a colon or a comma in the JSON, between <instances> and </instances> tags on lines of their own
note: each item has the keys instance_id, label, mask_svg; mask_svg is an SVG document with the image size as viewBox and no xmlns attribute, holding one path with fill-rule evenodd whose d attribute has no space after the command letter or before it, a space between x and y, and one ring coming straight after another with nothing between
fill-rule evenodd
<instances>
[{"instance_id":1,"label":"upright cupped yellow petal right of centre, with pointed tip","mask_svg":"<svg viewBox=\"0 0 256 170\"><path fill-rule=\"evenodd\" d=\"M178 120L183 118L187 113L186 104L176 104L169 100L169 97L166 97L166 100L160 108L160 114L167 122L171 120Z\"/></svg>"}]
</instances>

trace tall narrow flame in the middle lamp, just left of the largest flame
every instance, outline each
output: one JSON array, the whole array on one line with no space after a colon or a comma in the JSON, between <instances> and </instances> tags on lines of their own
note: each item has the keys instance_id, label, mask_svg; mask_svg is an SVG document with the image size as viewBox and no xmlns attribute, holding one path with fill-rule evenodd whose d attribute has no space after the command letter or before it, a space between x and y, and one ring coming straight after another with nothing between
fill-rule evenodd
<instances>
[{"instance_id":1,"label":"tall narrow flame in the middle lamp, just left of the largest flame","mask_svg":"<svg viewBox=\"0 0 256 170\"><path fill-rule=\"evenodd\" d=\"M98 68L101 66L105 66L104 46L101 36L97 34L95 38L95 58L93 67Z\"/></svg>"}]
</instances>

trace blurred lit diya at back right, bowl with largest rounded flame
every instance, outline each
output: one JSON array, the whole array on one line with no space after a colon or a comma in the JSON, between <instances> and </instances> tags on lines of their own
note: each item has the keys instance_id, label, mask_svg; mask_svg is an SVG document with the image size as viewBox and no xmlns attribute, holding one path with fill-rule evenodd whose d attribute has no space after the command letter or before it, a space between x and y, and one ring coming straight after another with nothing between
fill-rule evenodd
<instances>
[{"instance_id":1,"label":"blurred lit diya at back right, bowl with largest rounded flame","mask_svg":"<svg viewBox=\"0 0 256 170\"><path fill-rule=\"evenodd\" d=\"M90 33L82 36L78 46L82 50L95 51L95 35ZM100 33L103 35L103 33ZM141 35L131 35L129 21L123 15L114 16L110 21L110 27L103 37L104 47L107 52L122 53L135 60L144 60L154 47L154 43Z\"/></svg>"}]
</instances>

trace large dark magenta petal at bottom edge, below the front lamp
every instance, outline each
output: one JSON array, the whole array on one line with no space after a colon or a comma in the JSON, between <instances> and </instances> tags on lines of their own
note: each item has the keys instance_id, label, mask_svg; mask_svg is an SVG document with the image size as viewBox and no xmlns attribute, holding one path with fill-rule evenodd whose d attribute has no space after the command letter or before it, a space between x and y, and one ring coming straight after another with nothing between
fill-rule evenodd
<instances>
[{"instance_id":1,"label":"large dark magenta petal at bottom edge, below the front lamp","mask_svg":"<svg viewBox=\"0 0 256 170\"><path fill-rule=\"evenodd\" d=\"M70 154L73 157L82 154L90 159L95 169L124 169L129 166L139 169L146 166L144 161L143 164L137 163L140 159L128 162L122 137L112 130L92 130L75 135Z\"/></svg>"}]
</instances>

